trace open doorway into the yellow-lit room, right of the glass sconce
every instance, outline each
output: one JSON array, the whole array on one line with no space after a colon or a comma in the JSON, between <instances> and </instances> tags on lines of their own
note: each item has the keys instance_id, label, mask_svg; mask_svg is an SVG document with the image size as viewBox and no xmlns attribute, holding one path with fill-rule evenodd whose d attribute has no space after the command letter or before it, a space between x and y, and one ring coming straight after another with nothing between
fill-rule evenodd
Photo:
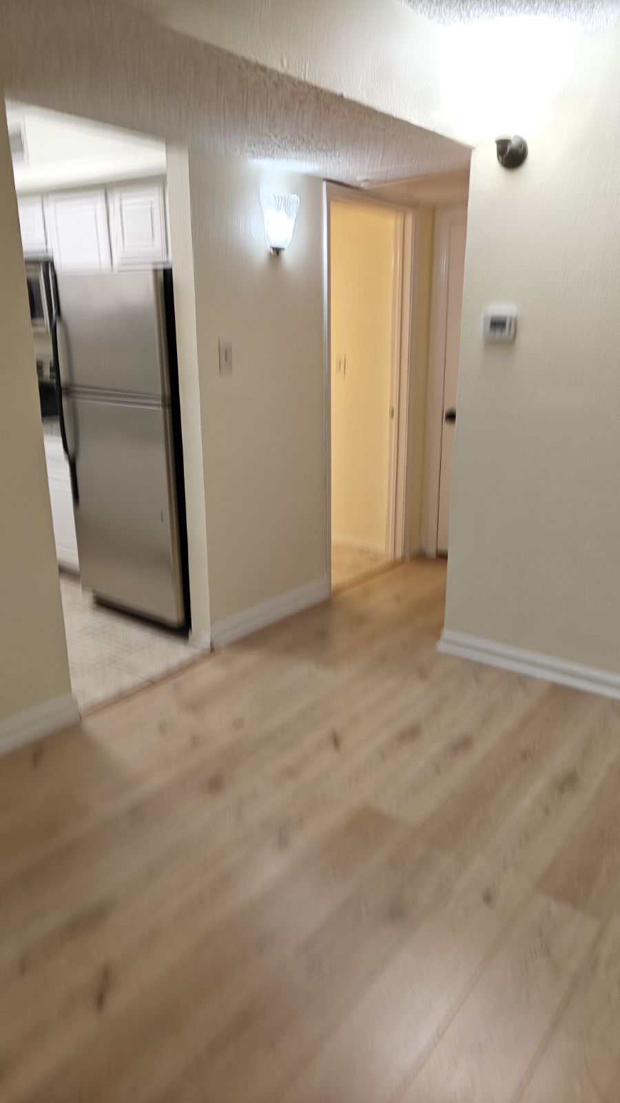
<instances>
[{"instance_id":1,"label":"open doorway into the yellow-lit room, right of the glass sconce","mask_svg":"<svg viewBox=\"0 0 620 1103\"><path fill-rule=\"evenodd\" d=\"M332 193L328 202L329 554L338 591L403 558L407 347L402 335L413 215L355 193Z\"/></svg>"}]
</instances>

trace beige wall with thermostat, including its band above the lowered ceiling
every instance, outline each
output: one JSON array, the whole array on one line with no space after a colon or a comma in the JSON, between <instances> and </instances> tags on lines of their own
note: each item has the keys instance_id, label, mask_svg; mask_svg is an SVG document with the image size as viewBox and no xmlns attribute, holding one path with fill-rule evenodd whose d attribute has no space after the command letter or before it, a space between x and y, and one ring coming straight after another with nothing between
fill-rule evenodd
<instances>
[{"instance_id":1,"label":"beige wall with thermostat, including its band above the lowered ceiling","mask_svg":"<svg viewBox=\"0 0 620 1103\"><path fill-rule=\"evenodd\" d=\"M310 20L310 3L297 21L286 0L252 0L243 19L225 0L161 7L226 49L479 142L446 623L618 672L620 31L441 29L380 0L320 0ZM510 173L493 139L514 131L530 158ZM487 347L484 308L505 301L516 343Z\"/></svg>"}]
</instances>

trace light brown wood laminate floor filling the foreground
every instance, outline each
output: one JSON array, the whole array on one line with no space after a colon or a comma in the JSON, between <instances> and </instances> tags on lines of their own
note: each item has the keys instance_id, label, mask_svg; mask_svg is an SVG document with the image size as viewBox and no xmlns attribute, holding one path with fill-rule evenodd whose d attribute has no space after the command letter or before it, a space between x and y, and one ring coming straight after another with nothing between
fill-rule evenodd
<instances>
[{"instance_id":1,"label":"light brown wood laminate floor filling the foreground","mask_svg":"<svg viewBox=\"0 0 620 1103\"><path fill-rule=\"evenodd\" d=\"M0 760L2 1103L617 1103L618 704L380 575Z\"/></svg>"}]
</instances>

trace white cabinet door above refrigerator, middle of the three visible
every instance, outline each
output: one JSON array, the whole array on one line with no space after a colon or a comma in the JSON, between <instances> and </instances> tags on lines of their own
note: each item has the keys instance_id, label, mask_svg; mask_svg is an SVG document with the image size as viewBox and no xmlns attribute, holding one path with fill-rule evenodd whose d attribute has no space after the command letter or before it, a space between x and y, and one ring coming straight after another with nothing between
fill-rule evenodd
<instances>
[{"instance_id":1,"label":"white cabinet door above refrigerator, middle of the three visible","mask_svg":"<svg viewBox=\"0 0 620 1103\"><path fill-rule=\"evenodd\" d=\"M54 265L58 270L111 268L105 191L50 195L45 218Z\"/></svg>"}]
</instances>

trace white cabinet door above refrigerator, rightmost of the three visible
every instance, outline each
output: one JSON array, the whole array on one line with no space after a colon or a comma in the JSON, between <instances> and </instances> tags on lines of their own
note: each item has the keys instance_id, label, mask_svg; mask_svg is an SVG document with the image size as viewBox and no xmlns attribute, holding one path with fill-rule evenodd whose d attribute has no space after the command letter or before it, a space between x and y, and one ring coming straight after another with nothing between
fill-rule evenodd
<instances>
[{"instance_id":1,"label":"white cabinet door above refrigerator, rightmost of the three visible","mask_svg":"<svg viewBox=\"0 0 620 1103\"><path fill-rule=\"evenodd\" d=\"M114 267L164 264L169 248L163 184L115 188L108 202Z\"/></svg>"}]
</instances>

